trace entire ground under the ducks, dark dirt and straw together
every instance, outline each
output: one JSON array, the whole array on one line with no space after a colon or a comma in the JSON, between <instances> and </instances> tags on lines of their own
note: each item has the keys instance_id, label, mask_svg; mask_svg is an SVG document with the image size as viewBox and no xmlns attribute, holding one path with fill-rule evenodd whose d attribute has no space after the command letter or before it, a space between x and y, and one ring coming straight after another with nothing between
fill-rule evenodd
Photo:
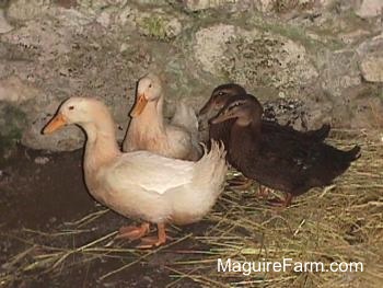
<instances>
[{"instance_id":1,"label":"entire ground under the ducks, dark dirt and straw together","mask_svg":"<svg viewBox=\"0 0 383 288\"><path fill-rule=\"evenodd\" d=\"M336 138L345 149L359 143L362 157L334 185L283 210L256 185L225 191L202 221L170 227L166 245L143 251L114 240L132 221L86 193L82 150L18 147L0 162L0 287L382 287L382 143L360 133ZM365 272L223 275L219 257L362 262Z\"/></svg>"}]
</instances>

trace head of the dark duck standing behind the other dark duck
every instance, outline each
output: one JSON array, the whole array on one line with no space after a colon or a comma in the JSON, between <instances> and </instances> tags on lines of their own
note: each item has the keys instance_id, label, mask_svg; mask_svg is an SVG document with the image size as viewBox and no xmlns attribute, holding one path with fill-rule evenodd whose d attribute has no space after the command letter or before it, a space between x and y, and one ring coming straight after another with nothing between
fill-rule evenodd
<instances>
[{"instance_id":1,"label":"head of the dark duck standing behind the other dark duck","mask_svg":"<svg viewBox=\"0 0 383 288\"><path fill-rule=\"evenodd\" d=\"M246 90L234 83L217 87L205 106L199 111L199 116L209 115L212 112L218 112L235 95L246 94Z\"/></svg>"}]
</instances>

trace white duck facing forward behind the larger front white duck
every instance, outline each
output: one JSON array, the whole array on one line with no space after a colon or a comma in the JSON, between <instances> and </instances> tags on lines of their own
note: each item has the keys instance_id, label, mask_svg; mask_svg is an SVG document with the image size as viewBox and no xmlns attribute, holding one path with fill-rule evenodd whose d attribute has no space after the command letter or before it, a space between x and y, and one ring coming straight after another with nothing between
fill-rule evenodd
<instances>
[{"instance_id":1,"label":"white duck facing forward behind the larger front white duck","mask_svg":"<svg viewBox=\"0 0 383 288\"><path fill-rule=\"evenodd\" d=\"M138 81L136 104L123 142L125 152L148 150L164 157L197 161L198 119L192 107L181 103L172 119L163 117L164 92L161 79L148 73Z\"/></svg>"}]
</instances>

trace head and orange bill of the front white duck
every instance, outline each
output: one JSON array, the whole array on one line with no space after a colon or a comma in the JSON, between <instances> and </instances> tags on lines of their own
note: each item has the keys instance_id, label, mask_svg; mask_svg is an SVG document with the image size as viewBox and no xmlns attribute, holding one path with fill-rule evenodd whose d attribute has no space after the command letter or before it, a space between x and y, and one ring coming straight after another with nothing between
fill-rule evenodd
<instances>
[{"instance_id":1,"label":"head and orange bill of the front white duck","mask_svg":"<svg viewBox=\"0 0 383 288\"><path fill-rule=\"evenodd\" d=\"M44 127L43 134L51 134L66 125L77 124L82 127L101 119L108 119L106 106L92 97L70 97L61 103L54 118Z\"/></svg>"}]
</instances>

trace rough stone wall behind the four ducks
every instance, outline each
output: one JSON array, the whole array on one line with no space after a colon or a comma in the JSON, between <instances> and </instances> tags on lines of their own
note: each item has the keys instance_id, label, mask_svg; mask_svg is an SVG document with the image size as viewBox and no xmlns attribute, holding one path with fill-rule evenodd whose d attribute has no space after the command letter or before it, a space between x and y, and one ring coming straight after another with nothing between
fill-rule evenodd
<instances>
[{"instance_id":1,"label":"rough stone wall behind the four ducks","mask_svg":"<svg viewBox=\"0 0 383 288\"><path fill-rule=\"evenodd\" d=\"M10 1L0 13L0 141L81 147L76 127L40 135L71 95L103 100L123 139L149 70L167 80L166 116L179 99L198 111L216 85L239 82L268 117L298 129L380 127L382 20L356 15L367 2Z\"/></svg>"}]
</instances>

